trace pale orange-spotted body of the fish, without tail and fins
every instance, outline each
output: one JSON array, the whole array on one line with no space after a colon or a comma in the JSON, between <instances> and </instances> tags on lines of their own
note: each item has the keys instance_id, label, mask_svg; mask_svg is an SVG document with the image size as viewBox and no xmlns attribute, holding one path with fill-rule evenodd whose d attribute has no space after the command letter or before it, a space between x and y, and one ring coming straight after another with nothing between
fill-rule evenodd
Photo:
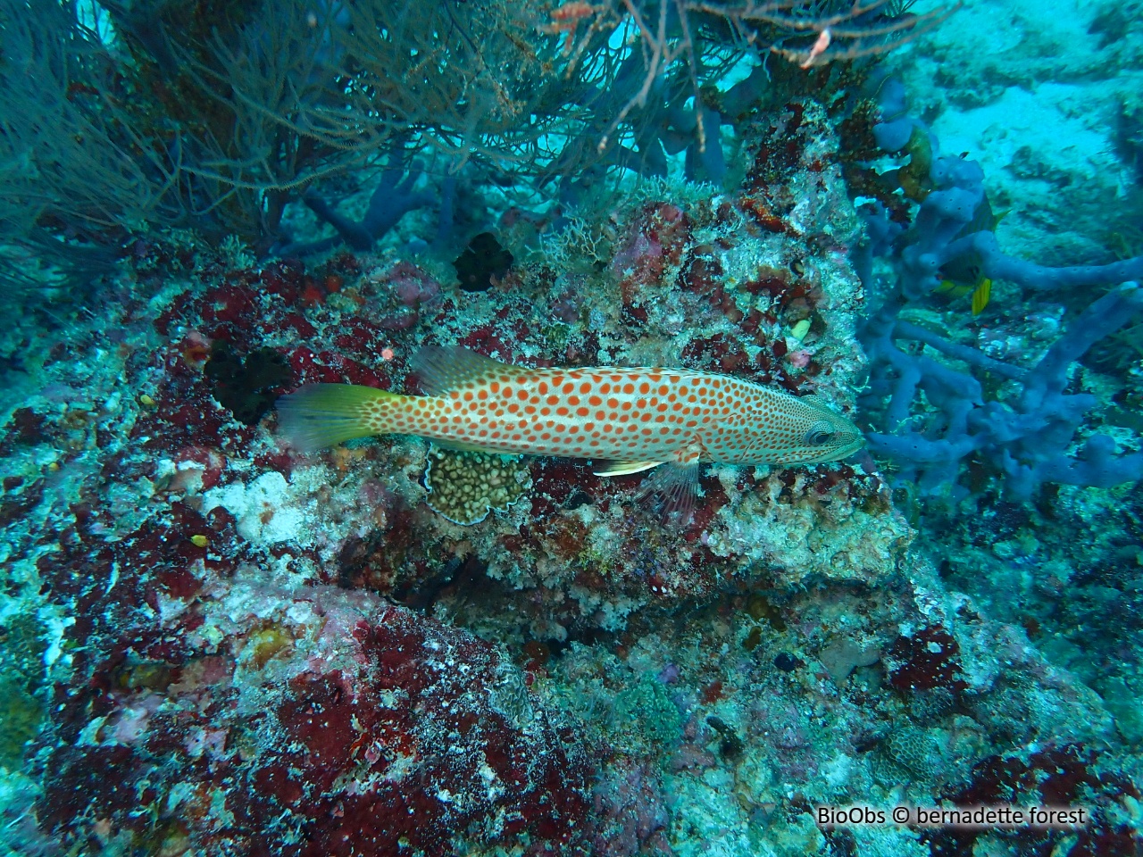
<instances>
[{"instance_id":1,"label":"pale orange-spotted body of the fish, without tail and fins","mask_svg":"<svg viewBox=\"0 0 1143 857\"><path fill-rule=\"evenodd\" d=\"M816 403L728 376L604 368L489 376L441 397L365 406L377 433L502 452L614 460L783 464L823 418ZM831 415L832 416L832 415Z\"/></svg>"}]
</instances>

